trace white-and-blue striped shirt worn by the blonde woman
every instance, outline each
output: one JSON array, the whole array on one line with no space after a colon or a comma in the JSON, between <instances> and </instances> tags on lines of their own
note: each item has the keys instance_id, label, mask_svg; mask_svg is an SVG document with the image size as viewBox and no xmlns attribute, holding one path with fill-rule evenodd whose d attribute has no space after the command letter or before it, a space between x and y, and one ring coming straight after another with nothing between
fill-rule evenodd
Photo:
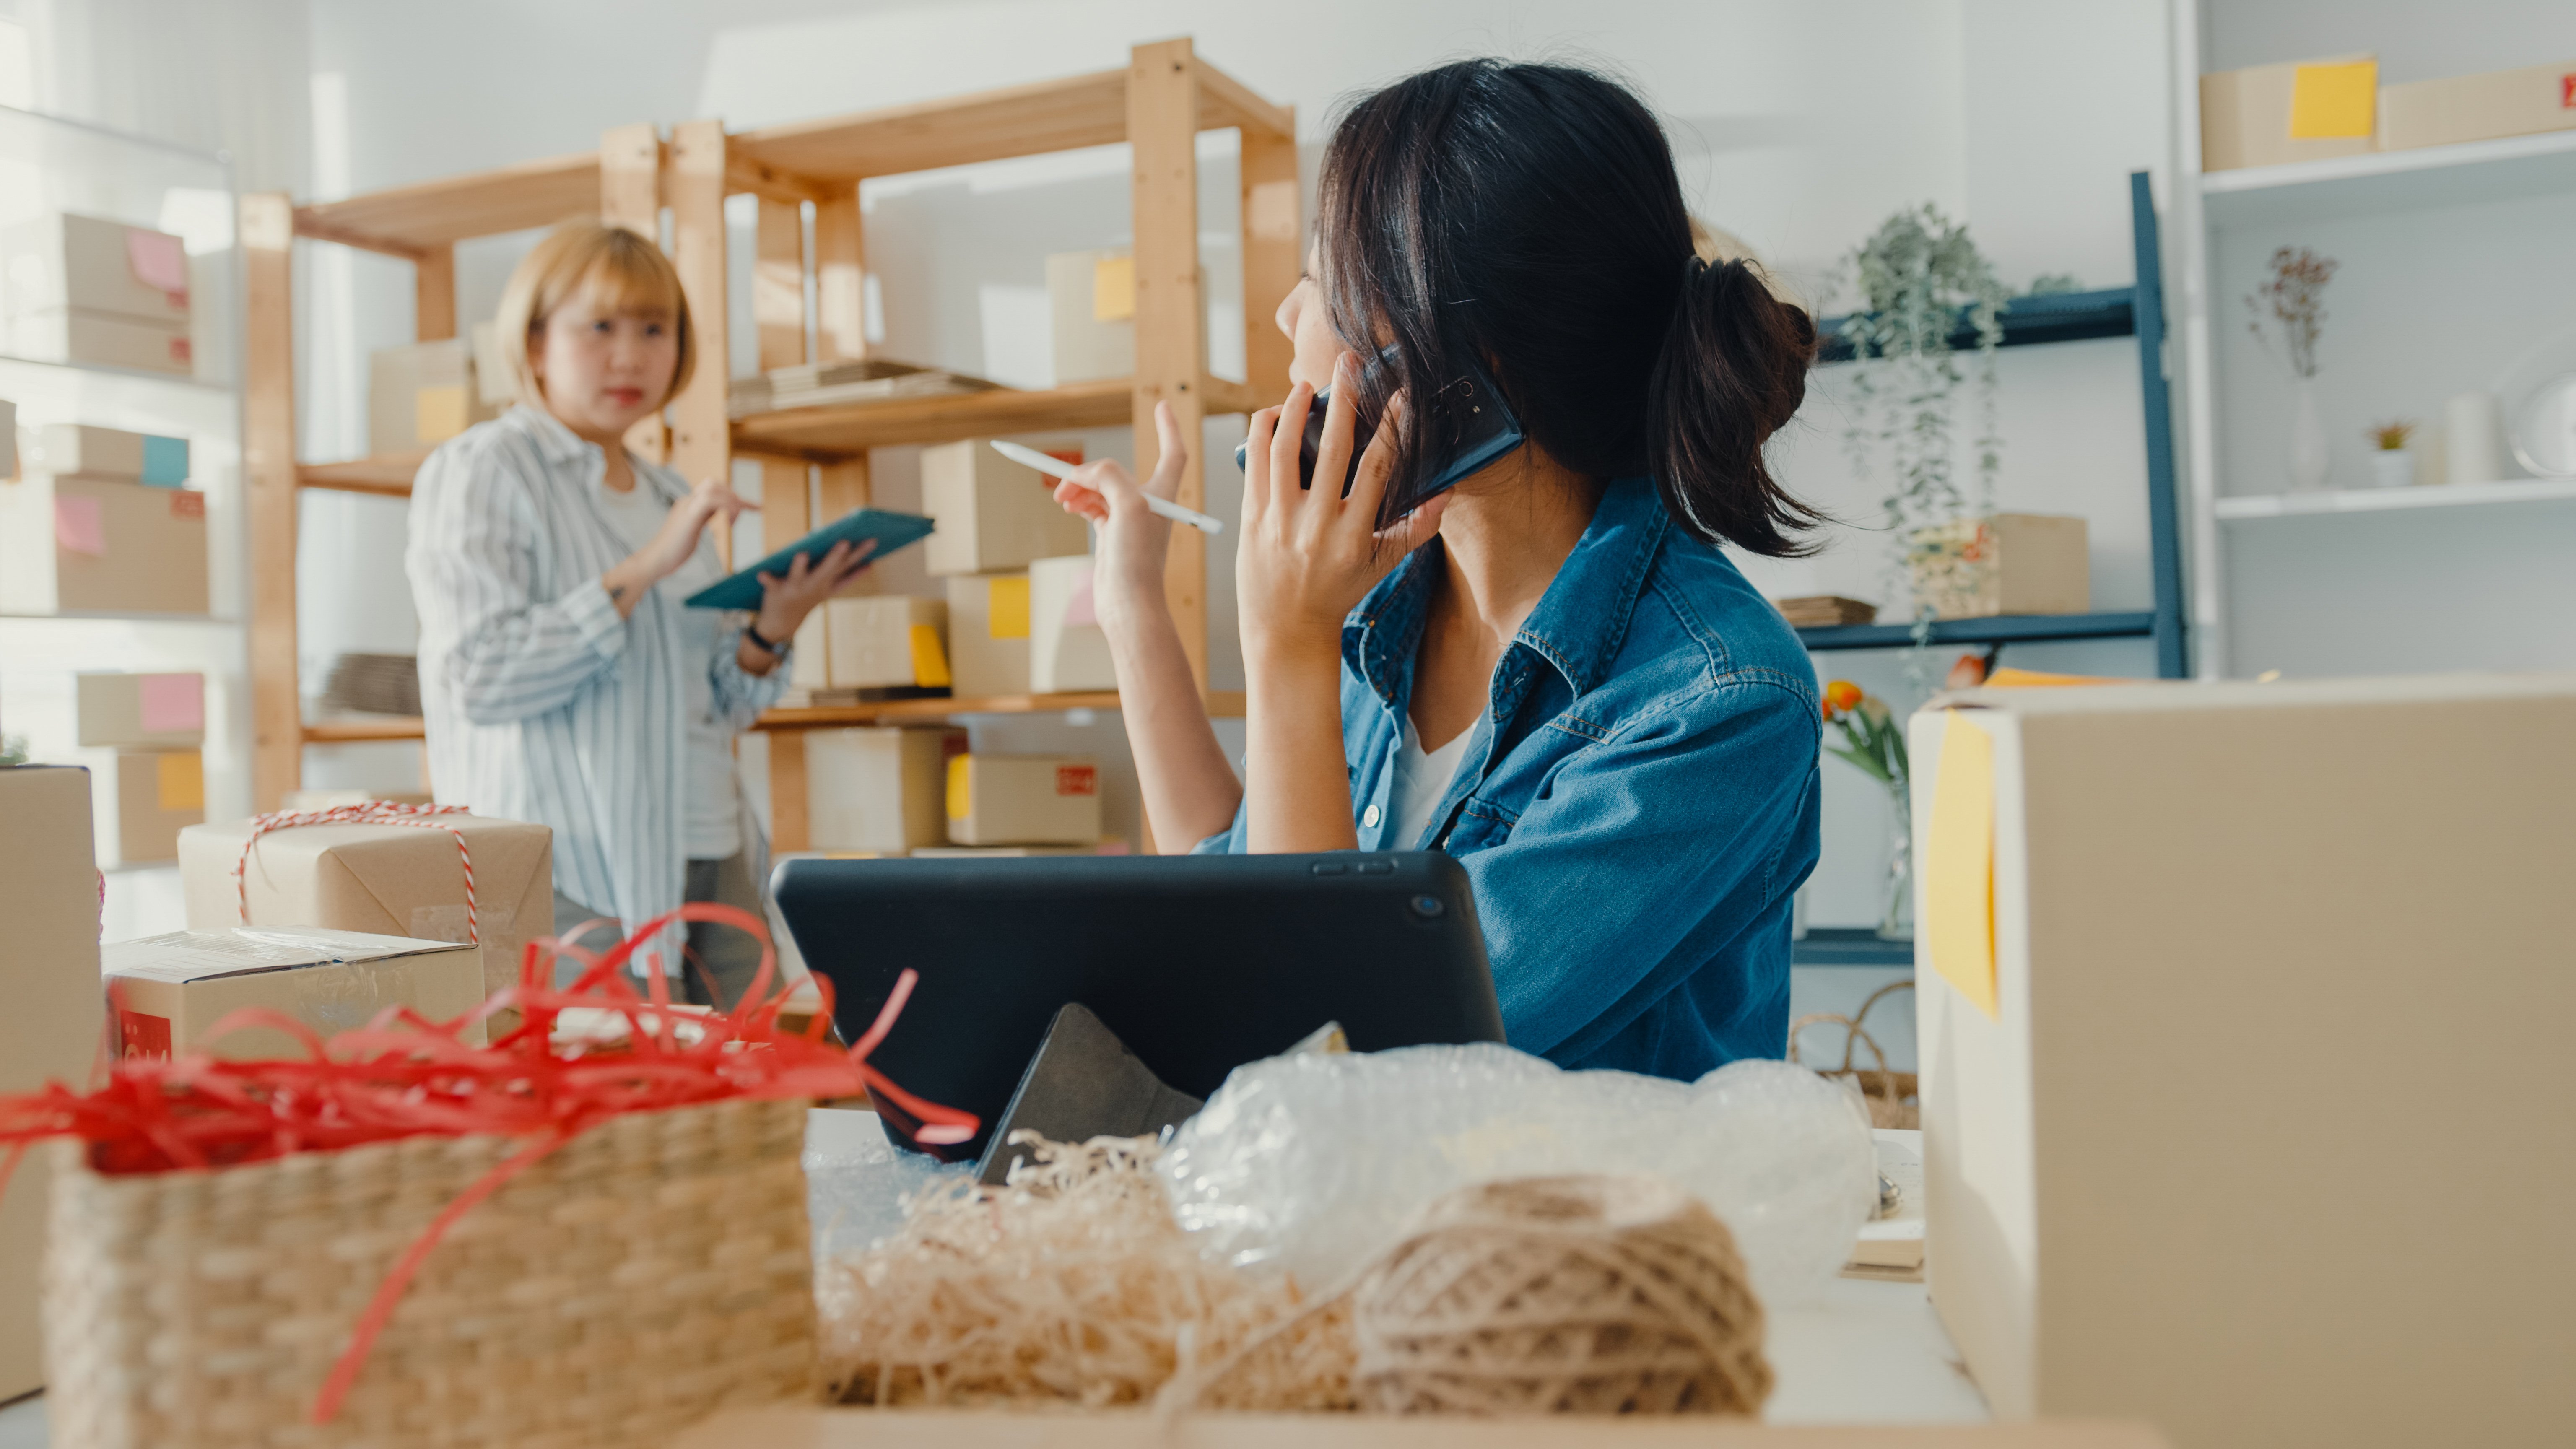
<instances>
[{"instance_id":1,"label":"white-and-blue striped shirt worn by the blonde woman","mask_svg":"<svg viewBox=\"0 0 2576 1449\"><path fill-rule=\"evenodd\" d=\"M600 575L634 549L605 513L605 472L536 407L469 428L420 464L404 572L438 802L554 828L554 890L639 926L685 890L688 670L734 730L788 670L742 673L734 629L708 632L662 588L618 619ZM688 495L667 467L634 472L662 508ZM698 559L716 565L711 531Z\"/></svg>"}]
</instances>

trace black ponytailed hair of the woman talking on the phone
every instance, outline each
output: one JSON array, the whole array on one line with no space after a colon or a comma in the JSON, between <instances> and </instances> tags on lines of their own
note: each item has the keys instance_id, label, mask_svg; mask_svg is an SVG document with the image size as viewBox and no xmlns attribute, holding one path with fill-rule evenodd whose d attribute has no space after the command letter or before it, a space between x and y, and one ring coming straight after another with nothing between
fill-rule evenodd
<instances>
[{"instance_id":1,"label":"black ponytailed hair of the woman talking on the phone","mask_svg":"<svg viewBox=\"0 0 2576 1449\"><path fill-rule=\"evenodd\" d=\"M1762 446L1806 397L1816 327L1744 263L1700 266L1672 147L1610 77L1468 59L1360 98L1319 178L1316 245L1363 413L1435 397L1468 364L1522 431L1587 477L1654 474L1705 541L1814 552L1819 513ZM1409 407L1386 521L1414 508L1455 431Z\"/></svg>"}]
</instances>

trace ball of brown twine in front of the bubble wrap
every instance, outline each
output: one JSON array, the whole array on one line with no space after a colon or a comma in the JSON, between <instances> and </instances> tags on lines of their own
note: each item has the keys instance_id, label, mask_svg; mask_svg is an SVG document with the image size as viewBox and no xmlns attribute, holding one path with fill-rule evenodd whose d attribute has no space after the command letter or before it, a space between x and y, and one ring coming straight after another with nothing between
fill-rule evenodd
<instances>
[{"instance_id":1,"label":"ball of brown twine in front of the bubble wrap","mask_svg":"<svg viewBox=\"0 0 2576 1449\"><path fill-rule=\"evenodd\" d=\"M1662 1178L1481 1183L1352 1297L1378 1413L1757 1413L1772 1374L1734 1232Z\"/></svg>"}]
</instances>

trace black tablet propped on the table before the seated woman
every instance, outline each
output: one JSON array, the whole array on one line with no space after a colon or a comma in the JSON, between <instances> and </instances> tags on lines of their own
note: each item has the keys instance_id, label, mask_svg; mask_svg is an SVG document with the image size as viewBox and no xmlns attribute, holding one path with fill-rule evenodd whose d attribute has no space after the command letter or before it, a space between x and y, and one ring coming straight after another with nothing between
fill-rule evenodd
<instances>
[{"instance_id":1,"label":"black tablet propped on the table before the seated woman","mask_svg":"<svg viewBox=\"0 0 2576 1449\"><path fill-rule=\"evenodd\" d=\"M809 859L770 887L806 967L832 977L842 1039L920 972L868 1060L984 1132L1074 1000L1200 1098L1327 1021L1355 1052L1502 1042L1466 869L1437 851ZM914 1145L894 1116L886 1132ZM925 1150L971 1160L984 1134Z\"/></svg>"}]
</instances>

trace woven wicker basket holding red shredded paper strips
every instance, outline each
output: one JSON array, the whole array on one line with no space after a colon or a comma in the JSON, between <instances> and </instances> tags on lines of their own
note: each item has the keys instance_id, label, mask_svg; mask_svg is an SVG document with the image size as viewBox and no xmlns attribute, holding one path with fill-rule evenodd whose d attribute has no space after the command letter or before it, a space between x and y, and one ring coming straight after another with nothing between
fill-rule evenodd
<instances>
[{"instance_id":1,"label":"woven wicker basket holding red shredded paper strips","mask_svg":"<svg viewBox=\"0 0 2576 1449\"><path fill-rule=\"evenodd\" d=\"M523 1142L412 1137L222 1171L57 1145L57 1449L647 1444L811 1397L806 1104L618 1116L466 1212L332 1423L307 1423L394 1258Z\"/></svg>"}]
</instances>

